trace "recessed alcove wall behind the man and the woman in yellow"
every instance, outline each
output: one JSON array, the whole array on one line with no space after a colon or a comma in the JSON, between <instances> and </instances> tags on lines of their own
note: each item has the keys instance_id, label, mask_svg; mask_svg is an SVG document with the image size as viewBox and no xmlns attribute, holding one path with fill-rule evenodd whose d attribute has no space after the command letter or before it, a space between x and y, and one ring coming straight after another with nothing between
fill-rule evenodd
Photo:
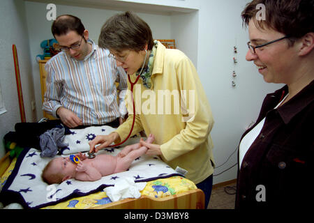
<instances>
[{"instance_id":1,"label":"recessed alcove wall behind the man and the woman in yellow","mask_svg":"<svg viewBox=\"0 0 314 223\"><path fill-rule=\"evenodd\" d=\"M39 67L36 61L36 55L43 54L43 49L40 48L40 43L43 40L53 38L51 33L52 21L46 20L47 3L38 3L33 1L25 1L27 12L27 26L29 27L29 45L31 54L31 63L33 69L33 82L36 92L36 105L38 118L43 117L41 109L41 93ZM100 28L109 17L119 13L117 10L106 10L98 8L85 8L81 6L66 6L57 4L57 16L70 14L80 17L85 29L89 30L89 38L98 43ZM170 17L167 15L156 15L139 13L140 17L151 26L154 38L170 38Z\"/></svg>"}]
</instances>

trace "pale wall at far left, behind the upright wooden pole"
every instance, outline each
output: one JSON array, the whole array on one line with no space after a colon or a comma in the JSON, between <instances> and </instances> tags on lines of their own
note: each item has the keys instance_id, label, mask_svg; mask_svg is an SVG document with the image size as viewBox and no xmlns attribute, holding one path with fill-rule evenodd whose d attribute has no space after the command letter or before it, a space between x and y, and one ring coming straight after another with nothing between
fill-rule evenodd
<instances>
[{"instance_id":1,"label":"pale wall at far left, behind the upright wooden pole","mask_svg":"<svg viewBox=\"0 0 314 223\"><path fill-rule=\"evenodd\" d=\"M36 120L36 114L31 110L34 91L29 56L29 36L25 20L24 1L2 0L0 2L0 85L2 100L7 110L6 113L0 114L0 157L5 154L2 144L4 135L13 131L15 123L21 121L13 62L13 44L17 47L25 116L27 121Z\"/></svg>"}]
</instances>

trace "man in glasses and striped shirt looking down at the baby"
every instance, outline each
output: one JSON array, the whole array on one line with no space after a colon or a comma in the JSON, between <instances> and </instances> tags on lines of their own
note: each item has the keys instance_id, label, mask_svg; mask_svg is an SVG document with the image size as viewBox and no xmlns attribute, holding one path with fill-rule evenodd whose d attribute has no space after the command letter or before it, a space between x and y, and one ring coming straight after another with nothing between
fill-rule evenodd
<instances>
[{"instance_id":1,"label":"man in glasses and striped shirt looking down at the baby","mask_svg":"<svg viewBox=\"0 0 314 223\"><path fill-rule=\"evenodd\" d=\"M45 65L48 75L43 109L68 128L105 124L117 128L127 113L126 72L117 67L109 50L89 39L79 18L57 17L52 34L62 52Z\"/></svg>"}]
</instances>

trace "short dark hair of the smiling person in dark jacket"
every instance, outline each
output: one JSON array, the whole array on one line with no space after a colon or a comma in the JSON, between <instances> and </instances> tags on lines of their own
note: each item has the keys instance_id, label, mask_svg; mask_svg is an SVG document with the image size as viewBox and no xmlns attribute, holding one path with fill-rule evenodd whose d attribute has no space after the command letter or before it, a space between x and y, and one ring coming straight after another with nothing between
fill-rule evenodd
<instances>
[{"instance_id":1,"label":"short dark hair of the smiling person in dark jacket","mask_svg":"<svg viewBox=\"0 0 314 223\"><path fill-rule=\"evenodd\" d=\"M255 17L260 10L258 4L265 6L265 20L257 20ZM284 33L294 42L314 31L313 10L314 0L253 0L246 5L241 17L246 26L253 18L257 27Z\"/></svg>"}]
</instances>

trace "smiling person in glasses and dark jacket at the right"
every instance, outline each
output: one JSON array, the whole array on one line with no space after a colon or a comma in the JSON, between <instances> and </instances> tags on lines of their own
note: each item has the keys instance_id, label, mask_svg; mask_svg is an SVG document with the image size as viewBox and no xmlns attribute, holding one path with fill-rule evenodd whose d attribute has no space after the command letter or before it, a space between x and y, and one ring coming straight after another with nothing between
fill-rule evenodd
<instances>
[{"instance_id":1,"label":"smiling person in glasses and dark jacket at the right","mask_svg":"<svg viewBox=\"0 0 314 223\"><path fill-rule=\"evenodd\" d=\"M257 20L264 4L265 20ZM236 208L304 208L314 200L313 0L254 0L242 12L252 61L269 93L239 144ZM257 83L255 83L257 84Z\"/></svg>"}]
</instances>

